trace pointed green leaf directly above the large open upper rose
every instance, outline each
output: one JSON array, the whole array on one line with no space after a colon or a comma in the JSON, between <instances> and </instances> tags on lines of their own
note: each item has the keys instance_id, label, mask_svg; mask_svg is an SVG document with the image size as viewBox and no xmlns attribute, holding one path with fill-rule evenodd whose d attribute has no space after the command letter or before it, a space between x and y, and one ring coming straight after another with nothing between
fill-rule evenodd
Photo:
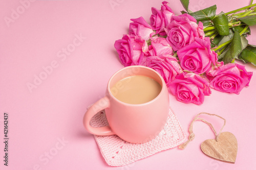
<instances>
[{"instance_id":1,"label":"pointed green leaf directly above the large open upper rose","mask_svg":"<svg viewBox=\"0 0 256 170\"><path fill-rule=\"evenodd\" d=\"M215 17L217 6L211 6L209 8L205 8L193 13L190 13L189 15L193 16L197 19L197 21L202 20L212 20Z\"/></svg>"}]
</instances>

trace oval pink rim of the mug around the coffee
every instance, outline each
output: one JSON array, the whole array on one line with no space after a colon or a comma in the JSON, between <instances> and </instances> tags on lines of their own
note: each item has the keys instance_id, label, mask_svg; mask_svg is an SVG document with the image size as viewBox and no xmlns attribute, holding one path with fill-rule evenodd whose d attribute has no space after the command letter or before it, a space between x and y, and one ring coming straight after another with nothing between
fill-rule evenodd
<instances>
[{"instance_id":1,"label":"oval pink rim of the mug around the coffee","mask_svg":"<svg viewBox=\"0 0 256 170\"><path fill-rule=\"evenodd\" d=\"M153 100L148 101L148 102L146 102L146 103L130 104L130 103L125 103L125 102L122 102L122 101L118 100L118 99L111 93L111 90L110 90L110 83L111 83L112 79L113 79L117 74L119 74L119 72L123 71L124 69L129 69L129 68L132 68L132 67L145 68L145 69L148 69L148 70L151 70L151 71L155 72L155 73L158 75L158 77L160 78L160 80L161 80L161 82L162 82L162 89L161 89L161 91L159 92L159 94L156 96L156 98L154 98ZM129 106L143 106L143 105L147 105L147 104L149 104L149 103L152 103L152 102L156 101L158 98L160 98L160 95L163 93L163 88L164 88L164 86L166 86L166 83L165 83L165 81L163 80L163 77L162 77L156 70L154 70L154 69L152 69L152 68L150 68L150 67L142 66L142 65L132 65L132 66L126 66L126 67L121 68L121 69L119 69L118 71L116 71L116 72L114 73L114 75L111 76L111 78L110 78L110 80L109 80L109 82L108 82L107 90L108 90L108 93L109 93L109 95L111 96L112 99L114 99L115 101L117 101L117 102L119 102L119 103L121 103L121 104L123 104L123 105L129 105Z\"/></svg>"}]
</instances>

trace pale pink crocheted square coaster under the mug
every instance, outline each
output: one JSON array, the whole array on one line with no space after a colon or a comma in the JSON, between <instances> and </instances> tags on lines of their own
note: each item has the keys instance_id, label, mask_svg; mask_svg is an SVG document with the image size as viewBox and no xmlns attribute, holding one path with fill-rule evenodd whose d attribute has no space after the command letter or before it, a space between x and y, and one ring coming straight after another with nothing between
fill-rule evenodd
<instances>
[{"instance_id":1,"label":"pale pink crocheted square coaster under the mug","mask_svg":"<svg viewBox=\"0 0 256 170\"><path fill-rule=\"evenodd\" d=\"M90 124L93 127L109 125L104 110L95 114ZM94 135L94 138L106 163L111 166L124 166L157 152L177 147L184 142L186 134L176 115L169 109L169 115L163 130L155 139L146 143L129 143L117 135Z\"/></svg>"}]
</instances>

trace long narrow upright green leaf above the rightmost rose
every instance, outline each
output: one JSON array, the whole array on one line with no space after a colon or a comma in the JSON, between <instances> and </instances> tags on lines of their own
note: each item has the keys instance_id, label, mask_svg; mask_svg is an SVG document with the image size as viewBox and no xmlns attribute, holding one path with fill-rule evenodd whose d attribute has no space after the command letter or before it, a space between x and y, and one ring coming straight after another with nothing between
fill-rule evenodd
<instances>
[{"instance_id":1,"label":"long narrow upright green leaf above the rightmost rose","mask_svg":"<svg viewBox=\"0 0 256 170\"><path fill-rule=\"evenodd\" d=\"M242 42L239 32L234 32L234 36L231 42L230 48L227 50L226 54L222 58L222 61L227 64L230 63L234 58L242 52Z\"/></svg>"}]
</instances>

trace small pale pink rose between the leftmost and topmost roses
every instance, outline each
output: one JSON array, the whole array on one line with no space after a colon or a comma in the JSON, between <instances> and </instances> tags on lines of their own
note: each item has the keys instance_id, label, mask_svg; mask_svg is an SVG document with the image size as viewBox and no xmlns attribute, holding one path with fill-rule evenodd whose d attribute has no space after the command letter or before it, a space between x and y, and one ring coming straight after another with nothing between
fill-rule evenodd
<instances>
[{"instance_id":1,"label":"small pale pink rose between the leftmost and topmost roses","mask_svg":"<svg viewBox=\"0 0 256 170\"><path fill-rule=\"evenodd\" d=\"M133 22L129 26L129 35L141 36L144 40L149 40L150 35L154 33L151 26L146 23L143 17L131 19Z\"/></svg>"}]
</instances>

